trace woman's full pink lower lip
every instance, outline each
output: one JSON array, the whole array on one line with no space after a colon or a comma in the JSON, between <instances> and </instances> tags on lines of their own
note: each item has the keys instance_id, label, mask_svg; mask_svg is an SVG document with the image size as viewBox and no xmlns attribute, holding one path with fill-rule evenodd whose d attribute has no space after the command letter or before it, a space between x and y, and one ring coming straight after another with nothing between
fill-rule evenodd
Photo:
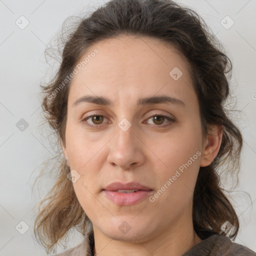
<instances>
[{"instance_id":1,"label":"woman's full pink lower lip","mask_svg":"<svg viewBox=\"0 0 256 256\"><path fill-rule=\"evenodd\" d=\"M133 205L148 197L152 190L138 190L131 193L121 193L117 191L103 190L105 195L117 205Z\"/></svg>"}]
</instances>

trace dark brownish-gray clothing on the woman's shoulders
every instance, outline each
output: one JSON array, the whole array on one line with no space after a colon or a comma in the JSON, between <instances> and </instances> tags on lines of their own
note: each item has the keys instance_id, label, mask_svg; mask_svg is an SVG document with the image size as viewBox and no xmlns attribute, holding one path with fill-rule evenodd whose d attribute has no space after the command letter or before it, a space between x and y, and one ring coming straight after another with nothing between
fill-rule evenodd
<instances>
[{"instance_id":1,"label":"dark brownish-gray clothing on the woman's shoulders","mask_svg":"<svg viewBox=\"0 0 256 256\"><path fill-rule=\"evenodd\" d=\"M94 256L93 247L94 236L91 230L84 235L80 244L54 256ZM256 252L232 242L227 236L213 234L201 240L181 256L256 256Z\"/></svg>"}]
</instances>

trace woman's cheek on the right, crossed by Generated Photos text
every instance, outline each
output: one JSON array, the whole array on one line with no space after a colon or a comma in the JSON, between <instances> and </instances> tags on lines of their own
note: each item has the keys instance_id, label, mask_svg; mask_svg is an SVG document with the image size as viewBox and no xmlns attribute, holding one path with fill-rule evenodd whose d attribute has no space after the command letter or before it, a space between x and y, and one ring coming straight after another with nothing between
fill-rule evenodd
<instances>
[{"instance_id":1,"label":"woman's cheek on the right, crossed by Generated Photos text","mask_svg":"<svg viewBox=\"0 0 256 256\"><path fill-rule=\"evenodd\" d=\"M176 196L176 199L171 200L178 200L180 196L191 197L200 166L201 131L198 126L187 123L173 129L168 136L158 137L154 146L151 144L164 166L156 173L158 188L167 186L166 194ZM164 187L161 190L164 190Z\"/></svg>"}]
</instances>

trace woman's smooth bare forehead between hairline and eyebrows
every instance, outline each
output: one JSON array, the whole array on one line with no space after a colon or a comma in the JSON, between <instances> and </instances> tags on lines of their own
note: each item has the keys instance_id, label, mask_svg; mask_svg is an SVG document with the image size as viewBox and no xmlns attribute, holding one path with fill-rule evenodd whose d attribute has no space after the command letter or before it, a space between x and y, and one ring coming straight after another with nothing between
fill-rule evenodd
<instances>
[{"instance_id":1,"label":"woman's smooth bare forehead between hairline and eyebrows","mask_svg":"<svg viewBox=\"0 0 256 256\"><path fill-rule=\"evenodd\" d=\"M81 62L85 58L86 63ZM88 93L111 95L113 101L157 92L179 98L193 93L185 58L157 38L123 35L101 40L87 49L79 63L70 85L72 101Z\"/></svg>"}]
</instances>

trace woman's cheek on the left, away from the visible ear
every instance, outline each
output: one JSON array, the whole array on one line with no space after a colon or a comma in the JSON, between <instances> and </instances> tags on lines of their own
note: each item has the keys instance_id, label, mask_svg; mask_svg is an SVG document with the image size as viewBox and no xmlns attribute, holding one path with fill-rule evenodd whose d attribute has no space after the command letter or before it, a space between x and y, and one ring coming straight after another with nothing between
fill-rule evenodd
<instances>
[{"instance_id":1,"label":"woman's cheek on the left, away from the visible ear","mask_svg":"<svg viewBox=\"0 0 256 256\"><path fill-rule=\"evenodd\" d=\"M70 169L78 172L79 179L73 183L75 193L90 201L91 193L97 192L100 170L107 157L106 147L109 136L84 132L81 127L66 128L66 150ZM105 177L102 177L104 180ZM82 199L82 198L81 198ZM93 200L93 198L91 198Z\"/></svg>"}]
</instances>

